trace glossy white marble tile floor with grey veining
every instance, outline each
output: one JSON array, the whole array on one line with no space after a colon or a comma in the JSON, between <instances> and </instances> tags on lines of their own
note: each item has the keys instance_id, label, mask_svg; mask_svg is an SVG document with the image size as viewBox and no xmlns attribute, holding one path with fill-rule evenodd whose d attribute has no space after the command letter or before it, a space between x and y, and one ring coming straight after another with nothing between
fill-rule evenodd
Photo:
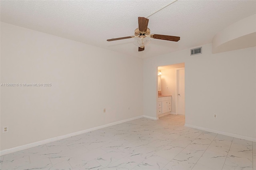
<instances>
[{"instance_id":1,"label":"glossy white marble tile floor with grey veining","mask_svg":"<svg viewBox=\"0 0 256 170\"><path fill-rule=\"evenodd\" d=\"M256 170L256 142L147 118L1 156L1 170Z\"/></svg>"}]
</instances>

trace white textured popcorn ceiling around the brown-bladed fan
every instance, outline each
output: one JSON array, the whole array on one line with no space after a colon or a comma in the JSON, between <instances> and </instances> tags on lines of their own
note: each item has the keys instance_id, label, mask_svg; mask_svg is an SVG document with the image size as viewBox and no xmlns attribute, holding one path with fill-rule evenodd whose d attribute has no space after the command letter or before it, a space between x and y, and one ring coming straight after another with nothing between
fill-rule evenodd
<instances>
[{"instance_id":1,"label":"white textured popcorn ceiling around the brown-bladed fan","mask_svg":"<svg viewBox=\"0 0 256 170\"><path fill-rule=\"evenodd\" d=\"M147 17L172 1L0 1L1 21L128 55L145 58L212 42L220 30L256 13L255 0L178 0L148 17L151 34L180 36L179 42L152 39L138 52L133 36L138 16Z\"/></svg>"}]
</instances>

